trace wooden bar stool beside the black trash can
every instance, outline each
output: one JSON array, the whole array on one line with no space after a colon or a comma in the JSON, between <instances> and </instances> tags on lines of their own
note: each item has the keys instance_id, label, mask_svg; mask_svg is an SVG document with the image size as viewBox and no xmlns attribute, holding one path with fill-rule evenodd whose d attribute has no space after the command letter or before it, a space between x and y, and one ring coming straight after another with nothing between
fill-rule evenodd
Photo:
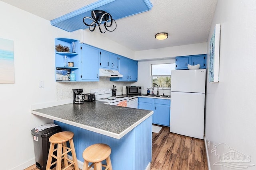
<instances>
[{"instance_id":1,"label":"wooden bar stool beside the black trash can","mask_svg":"<svg viewBox=\"0 0 256 170\"><path fill-rule=\"evenodd\" d=\"M75 170L78 170L78 164L76 159L76 152L73 142L74 133L70 131L64 131L55 133L49 138L50 141L50 149L46 164L46 170L50 170L50 167L56 164L56 170L61 170L61 162L64 160L64 169L74 165ZM70 148L67 147L67 141L69 141ZM55 144L57 144L57 148L54 149ZM57 155L54 155L54 152L57 150ZM62 152L63 150L63 152ZM72 153L73 160L68 158L68 152ZM55 158L56 161L52 162L52 158ZM70 162L70 164L68 164Z\"/></svg>"}]
</instances>

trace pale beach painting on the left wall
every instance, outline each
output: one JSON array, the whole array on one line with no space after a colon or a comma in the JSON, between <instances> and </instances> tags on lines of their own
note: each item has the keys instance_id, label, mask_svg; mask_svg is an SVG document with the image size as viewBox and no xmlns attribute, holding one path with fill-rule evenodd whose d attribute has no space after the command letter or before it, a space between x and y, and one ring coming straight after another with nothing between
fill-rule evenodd
<instances>
[{"instance_id":1,"label":"pale beach painting on the left wall","mask_svg":"<svg viewBox=\"0 0 256 170\"><path fill-rule=\"evenodd\" d=\"M0 38L0 83L14 83L13 41Z\"/></svg>"}]
</instances>

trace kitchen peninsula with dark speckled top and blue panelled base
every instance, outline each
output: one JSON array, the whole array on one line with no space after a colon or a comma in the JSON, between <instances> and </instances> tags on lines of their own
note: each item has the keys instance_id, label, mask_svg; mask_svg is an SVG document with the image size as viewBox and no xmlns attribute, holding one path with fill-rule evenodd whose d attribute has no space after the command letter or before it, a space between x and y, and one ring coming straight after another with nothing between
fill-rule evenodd
<instances>
[{"instance_id":1,"label":"kitchen peninsula with dark speckled top and blue panelled base","mask_svg":"<svg viewBox=\"0 0 256 170\"><path fill-rule=\"evenodd\" d=\"M150 167L153 111L85 102L32 110L31 113L54 120L62 131L74 132L76 156L81 162L84 162L82 152L86 147L105 143L111 147L114 170L147 170Z\"/></svg>"}]
</instances>

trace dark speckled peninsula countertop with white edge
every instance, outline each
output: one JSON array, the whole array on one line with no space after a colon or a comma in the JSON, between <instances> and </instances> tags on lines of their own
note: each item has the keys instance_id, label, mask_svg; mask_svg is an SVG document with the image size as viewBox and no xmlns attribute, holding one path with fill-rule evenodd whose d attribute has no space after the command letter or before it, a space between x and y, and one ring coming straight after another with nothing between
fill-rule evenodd
<instances>
[{"instance_id":1,"label":"dark speckled peninsula countertop with white edge","mask_svg":"<svg viewBox=\"0 0 256 170\"><path fill-rule=\"evenodd\" d=\"M64 104L31 113L120 139L153 111L105 105L103 102Z\"/></svg>"}]
</instances>

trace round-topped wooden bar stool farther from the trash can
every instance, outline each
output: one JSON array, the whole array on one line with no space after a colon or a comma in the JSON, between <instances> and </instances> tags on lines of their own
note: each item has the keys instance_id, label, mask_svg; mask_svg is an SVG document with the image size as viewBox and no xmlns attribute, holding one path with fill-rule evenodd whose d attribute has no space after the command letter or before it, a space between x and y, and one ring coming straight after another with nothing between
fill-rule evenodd
<instances>
[{"instance_id":1,"label":"round-topped wooden bar stool farther from the trash can","mask_svg":"<svg viewBox=\"0 0 256 170\"><path fill-rule=\"evenodd\" d=\"M94 144L86 148L83 152L83 170L90 170L92 166L94 166L94 170L102 170L102 166L106 167L105 170L112 170L110 153L110 147L103 143ZM102 160L106 160L107 164L102 164ZM88 167L89 162L92 162L92 164Z\"/></svg>"}]
</instances>

